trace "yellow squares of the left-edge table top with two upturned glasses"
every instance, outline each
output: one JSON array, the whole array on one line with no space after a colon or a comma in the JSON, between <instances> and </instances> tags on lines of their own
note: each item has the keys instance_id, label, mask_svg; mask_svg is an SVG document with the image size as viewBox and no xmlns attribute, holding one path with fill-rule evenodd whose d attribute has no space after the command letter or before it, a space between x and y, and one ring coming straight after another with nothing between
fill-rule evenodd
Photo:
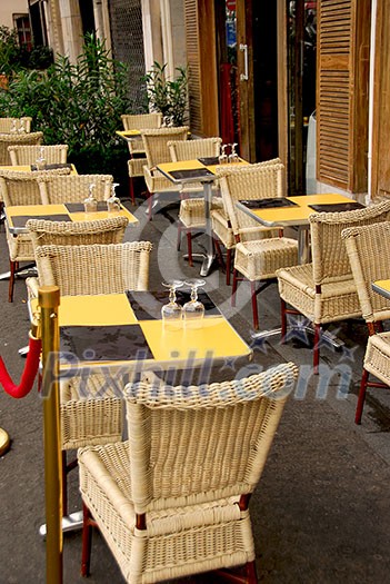
<instances>
[{"instance_id":1,"label":"yellow squares of the left-edge table top with two upturned glasses","mask_svg":"<svg viewBox=\"0 0 390 584\"><path fill-rule=\"evenodd\" d=\"M97 211L97 212L70 212L68 211L66 205L14 205L11 207L6 207L6 217L8 226L11 232L26 232L26 227L17 227L13 225L12 218L14 217L27 217L28 219L33 219L34 217L47 218L49 220L54 220L52 216L54 215L66 215L69 216L72 221L98 221L101 219L108 219L109 217L127 217L129 224L137 224L138 219L126 209L123 206L119 212L117 211ZM27 220L27 219L26 219Z\"/></svg>"}]
</instances>

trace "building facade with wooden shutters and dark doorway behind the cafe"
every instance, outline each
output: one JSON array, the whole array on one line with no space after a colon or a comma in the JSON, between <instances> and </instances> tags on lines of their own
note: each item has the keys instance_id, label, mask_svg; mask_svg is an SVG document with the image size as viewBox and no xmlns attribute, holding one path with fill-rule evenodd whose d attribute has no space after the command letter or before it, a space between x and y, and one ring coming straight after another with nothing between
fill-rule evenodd
<instances>
[{"instance_id":1,"label":"building facade with wooden shutters and dark doorway behind the cafe","mask_svg":"<svg viewBox=\"0 0 390 584\"><path fill-rule=\"evenodd\" d=\"M11 4L8 0L3 3ZM288 191L390 192L386 0L29 0L42 37L76 59L96 30L127 62L134 108L153 61L189 66L190 126L279 156ZM13 9L14 3L12 3ZM306 180L308 170L312 180Z\"/></svg>"}]
</instances>

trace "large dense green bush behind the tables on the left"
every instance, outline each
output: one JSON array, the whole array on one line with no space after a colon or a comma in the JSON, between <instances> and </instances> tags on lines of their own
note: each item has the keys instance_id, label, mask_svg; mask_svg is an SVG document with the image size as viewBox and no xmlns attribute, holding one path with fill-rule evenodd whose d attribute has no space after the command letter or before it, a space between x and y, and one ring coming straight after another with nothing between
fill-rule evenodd
<instances>
[{"instance_id":1,"label":"large dense green bush behind the tables on the left","mask_svg":"<svg viewBox=\"0 0 390 584\"><path fill-rule=\"evenodd\" d=\"M76 63L67 56L46 71L19 71L0 89L1 116L31 116L44 143L68 143L80 172L109 172L127 182L127 145L116 136L129 111L127 70L104 42L86 34Z\"/></svg>"}]
</instances>

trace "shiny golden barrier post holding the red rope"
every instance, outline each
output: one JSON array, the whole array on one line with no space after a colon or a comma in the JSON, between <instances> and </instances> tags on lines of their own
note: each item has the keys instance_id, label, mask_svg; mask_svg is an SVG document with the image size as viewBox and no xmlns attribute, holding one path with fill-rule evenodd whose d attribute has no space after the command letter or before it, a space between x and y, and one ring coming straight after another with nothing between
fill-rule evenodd
<instances>
[{"instance_id":1,"label":"shiny golden barrier post holding the red rope","mask_svg":"<svg viewBox=\"0 0 390 584\"><path fill-rule=\"evenodd\" d=\"M62 583L62 464L59 417L59 359L60 347L58 286L39 288L42 326L42 396L48 584Z\"/></svg>"}]
</instances>

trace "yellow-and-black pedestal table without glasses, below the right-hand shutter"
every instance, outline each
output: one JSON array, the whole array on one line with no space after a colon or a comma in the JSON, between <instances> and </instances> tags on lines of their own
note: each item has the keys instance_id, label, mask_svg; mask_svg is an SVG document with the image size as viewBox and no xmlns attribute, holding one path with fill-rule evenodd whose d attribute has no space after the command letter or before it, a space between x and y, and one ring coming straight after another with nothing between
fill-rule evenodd
<instances>
[{"instance_id":1,"label":"yellow-and-black pedestal table without glasses, below the right-hand shutter","mask_svg":"<svg viewBox=\"0 0 390 584\"><path fill-rule=\"evenodd\" d=\"M237 207L267 227L298 227L298 256L309 260L309 216L321 211L344 211L363 207L344 195L326 192L272 199L246 200Z\"/></svg>"}]
</instances>

